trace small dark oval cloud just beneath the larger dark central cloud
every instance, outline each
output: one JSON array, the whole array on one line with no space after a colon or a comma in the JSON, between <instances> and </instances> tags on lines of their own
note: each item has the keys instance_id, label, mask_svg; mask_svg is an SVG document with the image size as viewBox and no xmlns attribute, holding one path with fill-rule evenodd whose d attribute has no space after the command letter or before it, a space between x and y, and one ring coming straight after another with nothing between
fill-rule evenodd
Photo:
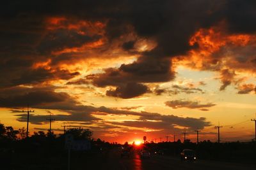
<instances>
[{"instance_id":1,"label":"small dark oval cloud just beneath the larger dark central cloud","mask_svg":"<svg viewBox=\"0 0 256 170\"><path fill-rule=\"evenodd\" d=\"M149 89L146 85L130 82L124 86L121 85L116 87L115 90L107 90L106 95L112 97L120 97L123 99L129 99L132 97L141 96L148 91Z\"/></svg>"}]
</instances>

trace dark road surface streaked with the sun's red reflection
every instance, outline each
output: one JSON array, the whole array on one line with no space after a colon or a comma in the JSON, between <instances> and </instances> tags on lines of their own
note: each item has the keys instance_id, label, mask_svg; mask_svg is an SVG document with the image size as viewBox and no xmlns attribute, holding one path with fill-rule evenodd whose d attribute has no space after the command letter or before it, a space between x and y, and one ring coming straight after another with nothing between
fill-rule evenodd
<instances>
[{"instance_id":1,"label":"dark road surface streaked with the sun's red reflection","mask_svg":"<svg viewBox=\"0 0 256 170\"><path fill-rule=\"evenodd\" d=\"M150 159L141 159L138 152L134 152L129 158L121 158L118 150L109 152L109 155L100 169L111 170L159 170L159 169L206 169L206 170L250 170L256 169L255 165L236 164L230 162L217 162L197 160L196 162L181 162L177 157L168 157L164 155L152 155Z\"/></svg>"}]
</instances>

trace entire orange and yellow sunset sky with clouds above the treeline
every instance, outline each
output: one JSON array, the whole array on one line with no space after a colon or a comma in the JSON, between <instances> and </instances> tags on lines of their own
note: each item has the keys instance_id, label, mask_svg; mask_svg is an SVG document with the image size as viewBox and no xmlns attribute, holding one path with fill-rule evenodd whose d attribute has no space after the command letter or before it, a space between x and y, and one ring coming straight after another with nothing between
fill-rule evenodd
<instances>
[{"instance_id":1,"label":"entire orange and yellow sunset sky with clouds above the treeline","mask_svg":"<svg viewBox=\"0 0 256 170\"><path fill-rule=\"evenodd\" d=\"M6 1L0 120L106 141L254 138L256 1Z\"/></svg>"}]
</instances>

